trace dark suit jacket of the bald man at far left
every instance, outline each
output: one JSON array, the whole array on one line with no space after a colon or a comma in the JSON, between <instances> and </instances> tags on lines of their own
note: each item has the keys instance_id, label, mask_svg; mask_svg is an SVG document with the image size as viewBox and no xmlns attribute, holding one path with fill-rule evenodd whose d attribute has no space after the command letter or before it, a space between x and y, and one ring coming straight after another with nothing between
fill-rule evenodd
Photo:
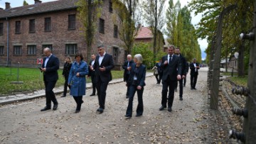
<instances>
[{"instance_id":1,"label":"dark suit jacket of the bald man at far left","mask_svg":"<svg viewBox=\"0 0 256 144\"><path fill-rule=\"evenodd\" d=\"M43 80L46 82L58 80L58 69L60 68L60 61L55 55L51 55L46 67L44 67L46 62L46 57L43 58L42 68L46 68L46 72L43 72Z\"/></svg>"}]
</instances>

